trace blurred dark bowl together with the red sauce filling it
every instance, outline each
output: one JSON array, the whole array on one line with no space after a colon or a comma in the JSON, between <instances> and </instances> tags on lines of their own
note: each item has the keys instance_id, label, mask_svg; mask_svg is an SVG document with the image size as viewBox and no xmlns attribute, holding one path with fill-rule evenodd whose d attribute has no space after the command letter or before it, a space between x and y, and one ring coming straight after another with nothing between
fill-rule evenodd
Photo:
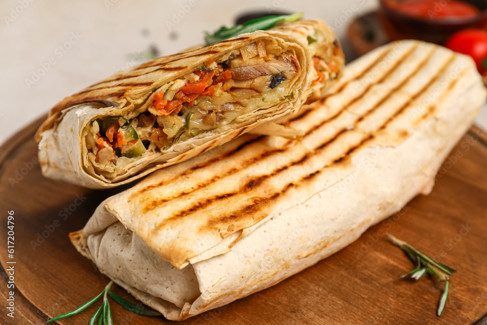
<instances>
[{"instance_id":1,"label":"blurred dark bowl together with the red sauce filling it","mask_svg":"<svg viewBox=\"0 0 487 325\"><path fill-rule=\"evenodd\" d=\"M484 27L487 0L380 0L383 25L393 39L442 44L451 34Z\"/></svg>"}]
</instances>

